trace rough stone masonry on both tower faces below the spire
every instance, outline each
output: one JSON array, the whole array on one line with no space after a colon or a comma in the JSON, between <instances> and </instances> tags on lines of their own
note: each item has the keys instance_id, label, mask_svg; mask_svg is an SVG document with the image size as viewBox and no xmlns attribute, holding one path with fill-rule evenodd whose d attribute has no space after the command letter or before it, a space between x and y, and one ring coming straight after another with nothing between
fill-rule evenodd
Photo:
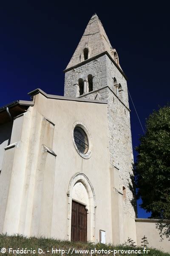
<instances>
[{"instance_id":1,"label":"rough stone masonry on both tower faces below the spire","mask_svg":"<svg viewBox=\"0 0 170 256\"><path fill-rule=\"evenodd\" d=\"M124 213L135 218L132 191L133 151L130 129L130 111L128 103L127 82L107 55L88 62L65 74L65 96L75 97L75 84L79 78L83 80L88 74L94 76L93 92L79 98L108 101L108 134L111 166L119 169L119 190L126 188L126 198L123 200ZM113 78L122 86L122 97L116 96ZM104 87L104 88L103 88ZM100 90L99 90L100 89ZM122 102L124 104L122 104Z\"/></svg>"}]
</instances>

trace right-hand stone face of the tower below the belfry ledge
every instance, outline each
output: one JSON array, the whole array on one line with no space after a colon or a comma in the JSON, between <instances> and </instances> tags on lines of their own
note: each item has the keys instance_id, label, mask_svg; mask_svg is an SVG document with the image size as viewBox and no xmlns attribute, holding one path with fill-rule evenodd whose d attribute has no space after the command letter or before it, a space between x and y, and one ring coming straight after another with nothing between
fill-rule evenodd
<instances>
[{"instance_id":1,"label":"right-hand stone face of the tower below the belfry ledge","mask_svg":"<svg viewBox=\"0 0 170 256\"><path fill-rule=\"evenodd\" d=\"M130 112L119 99L108 91L108 129L110 161L119 169L119 190L126 188L126 198L123 200L124 213L135 218L132 189L133 151L130 130ZM131 177L131 178L130 178Z\"/></svg>"}]
</instances>

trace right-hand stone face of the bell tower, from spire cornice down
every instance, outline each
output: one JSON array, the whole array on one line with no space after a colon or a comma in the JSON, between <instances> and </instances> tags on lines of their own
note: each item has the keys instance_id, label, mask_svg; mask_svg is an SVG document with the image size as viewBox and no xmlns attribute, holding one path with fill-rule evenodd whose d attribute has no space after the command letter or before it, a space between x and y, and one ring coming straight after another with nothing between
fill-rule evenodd
<instances>
[{"instance_id":1,"label":"right-hand stone face of the bell tower, from spire cornice down","mask_svg":"<svg viewBox=\"0 0 170 256\"><path fill-rule=\"evenodd\" d=\"M132 192L133 184L133 149L130 128L130 111L128 102L127 81L106 57L107 85L108 89L108 129L110 162L112 166L119 169L119 189L126 188L126 198L123 200L124 212L128 216L135 218L135 198ZM122 86L122 97L116 97L116 88L113 78ZM122 102L125 104L123 105Z\"/></svg>"}]
</instances>

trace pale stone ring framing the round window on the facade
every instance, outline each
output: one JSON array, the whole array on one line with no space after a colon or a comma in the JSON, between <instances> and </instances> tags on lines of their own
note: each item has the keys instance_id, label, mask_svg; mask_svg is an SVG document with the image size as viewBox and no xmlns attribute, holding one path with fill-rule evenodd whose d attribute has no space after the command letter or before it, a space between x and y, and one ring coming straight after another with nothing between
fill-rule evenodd
<instances>
[{"instance_id":1,"label":"pale stone ring framing the round window on the facade","mask_svg":"<svg viewBox=\"0 0 170 256\"><path fill-rule=\"evenodd\" d=\"M77 148L77 145L75 143L75 140L74 140L74 129L76 127L79 127L81 128L85 134L87 135L87 139L88 139L88 151L87 153L83 154L79 151L79 149ZM80 121L76 121L74 122L74 124L72 125L72 129L71 129L71 135L72 135L72 140L73 140L73 144L74 144L74 147L76 148L76 151L79 153L79 155L84 158L84 159L89 159L92 155L92 137L91 137L91 134L90 134L90 131L88 130L87 126L80 122Z\"/></svg>"}]
</instances>

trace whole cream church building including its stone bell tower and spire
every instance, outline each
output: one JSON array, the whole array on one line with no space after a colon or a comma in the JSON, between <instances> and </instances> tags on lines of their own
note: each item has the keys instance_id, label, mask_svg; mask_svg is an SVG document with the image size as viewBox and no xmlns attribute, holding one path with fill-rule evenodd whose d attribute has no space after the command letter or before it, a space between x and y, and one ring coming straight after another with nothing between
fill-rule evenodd
<instances>
[{"instance_id":1,"label":"whole cream church building including its stone bell tower and spire","mask_svg":"<svg viewBox=\"0 0 170 256\"><path fill-rule=\"evenodd\" d=\"M0 233L167 247L136 218L127 77L96 14L64 72L64 96L0 108Z\"/></svg>"}]
</instances>

